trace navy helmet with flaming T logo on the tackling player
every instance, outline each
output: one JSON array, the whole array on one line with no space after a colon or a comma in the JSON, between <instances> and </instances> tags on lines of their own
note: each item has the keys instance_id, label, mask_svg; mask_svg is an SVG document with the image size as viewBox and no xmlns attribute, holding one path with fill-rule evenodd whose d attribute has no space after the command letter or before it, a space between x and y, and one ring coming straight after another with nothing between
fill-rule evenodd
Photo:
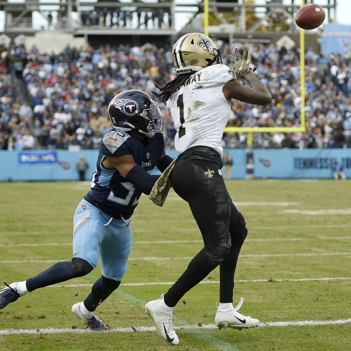
<instances>
[{"instance_id":1,"label":"navy helmet with flaming T logo on the tackling player","mask_svg":"<svg viewBox=\"0 0 351 351\"><path fill-rule=\"evenodd\" d=\"M149 138L162 132L163 115L158 103L141 90L119 93L108 104L107 112L115 130L136 130Z\"/></svg>"}]
</instances>

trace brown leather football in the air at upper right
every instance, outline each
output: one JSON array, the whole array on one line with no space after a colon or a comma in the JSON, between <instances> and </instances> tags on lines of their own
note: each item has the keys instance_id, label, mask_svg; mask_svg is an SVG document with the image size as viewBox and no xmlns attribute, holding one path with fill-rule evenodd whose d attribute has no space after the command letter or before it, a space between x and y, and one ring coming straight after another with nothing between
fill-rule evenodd
<instances>
[{"instance_id":1,"label":"brown leather football in the air at upper right","mask_svg":"<svg viewBox=\"0 0 351 351\"><path fill-rule=\"evenodd\" d=\"M319 27L325 19L325 11L322 6L308 4L298 9L295 15L296 24L303 29Z\"/></svg>"}]
</instances>

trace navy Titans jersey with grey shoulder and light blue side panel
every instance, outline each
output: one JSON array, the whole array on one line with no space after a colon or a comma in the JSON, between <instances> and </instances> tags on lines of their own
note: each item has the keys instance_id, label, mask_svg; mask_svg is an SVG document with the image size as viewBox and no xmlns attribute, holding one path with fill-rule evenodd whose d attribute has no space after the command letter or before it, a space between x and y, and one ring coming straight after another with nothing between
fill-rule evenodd
<instances>
[{"instance_id":1,"label":"navy Titans jersey with grey shoulder and light blue side panel","mask_svg":"<svg viewBox=\"0 0 351 351\"><path fill-rule=\"evenodd\" d=\"M142 191L127 182L118 170L108 170L102 161L108 155L132 155L135 163L152 173L160 159L165 143L162 133L155 133L153 138L146 138L147 145L125 132L114 129L102 137L96 170L92 176L91 190L84 197L94 206L114 218L128 219L138 205Z\"/></svg>"}]
</instances>

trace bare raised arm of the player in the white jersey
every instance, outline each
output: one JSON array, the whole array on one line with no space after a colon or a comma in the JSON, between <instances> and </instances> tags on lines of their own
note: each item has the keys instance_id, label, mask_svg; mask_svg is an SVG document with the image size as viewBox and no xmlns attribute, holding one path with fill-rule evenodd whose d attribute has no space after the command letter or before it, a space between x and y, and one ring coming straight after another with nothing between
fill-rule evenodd
<instances>
[{"instance_id":1,"label":"bare raised arm of the player in the white jersey","mask_svg":"<svg viewBox=\"0 0 351 351\"><path fill-rule=\"evenodd\" d=\"M233 98L248 104L268 105L272 102L272 96L267 87L249 69L244 79L250 87L241 84L238 80L230 80L223 87L223 94L226 99Z\"/></svg>"}]
</instances>

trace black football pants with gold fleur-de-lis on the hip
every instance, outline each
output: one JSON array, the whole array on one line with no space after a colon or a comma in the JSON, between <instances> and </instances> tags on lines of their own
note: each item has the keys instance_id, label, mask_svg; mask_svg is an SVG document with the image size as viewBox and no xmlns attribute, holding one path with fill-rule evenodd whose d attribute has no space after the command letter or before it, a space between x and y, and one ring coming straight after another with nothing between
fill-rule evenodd
<instances>
[{"instance_id":1,"label":"black football pants with gold fleur-de-lis on the hip","mask_svg":"<svg viewBox=\"0 0 351 351\"><path fill-rule=\"evenodd\" d=\"M188 202L201 231L204 248L165 294L165 303L170 307L218 265L220 302L233 302L234 272L247 229L220 174L222 166L218 152L203 146L181 153L174 165L173 189Z\"/></svg>"}]
</instances>

